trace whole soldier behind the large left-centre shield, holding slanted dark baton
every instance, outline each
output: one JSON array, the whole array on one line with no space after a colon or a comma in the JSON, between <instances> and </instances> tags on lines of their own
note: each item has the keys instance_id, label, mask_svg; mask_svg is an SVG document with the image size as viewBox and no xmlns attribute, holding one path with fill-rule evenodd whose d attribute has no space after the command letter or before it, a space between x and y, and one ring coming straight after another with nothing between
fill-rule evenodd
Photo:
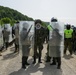
<instances>
[{"instance_id":1,"label":"whole soldier behind the large left-centre shield, holding slanted dark baton","mask_svg":"<svg viewBox=\"0 0 76 75\"><path fill-rule=\"evenodd\" d=\"M29 28L29 25L26 22L23 23L22 26L23 28L20 33L20 41L22 46L22 68L26 69L26 65L29 65L29 63L27 62L31 46L29 33L32 26Z\"/></svg>"}]
</instances>

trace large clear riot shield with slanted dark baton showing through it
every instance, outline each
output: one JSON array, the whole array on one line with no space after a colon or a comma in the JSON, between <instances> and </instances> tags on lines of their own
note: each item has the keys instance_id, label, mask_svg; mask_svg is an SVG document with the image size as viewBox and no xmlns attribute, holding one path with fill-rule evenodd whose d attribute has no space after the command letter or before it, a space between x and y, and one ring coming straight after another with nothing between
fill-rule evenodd
<instances>
[{"instance_id":1,"label":"large clear riot shield with slanted dark baton showing through it","mask_svg":"<svg viewBox=\"0 0 76 75\"><path fill-rule=\"evenodd\" d=\"M34 21L21 21L19 25L19 47L23 56L33 55Z\"/></svg>"}]
</instances>

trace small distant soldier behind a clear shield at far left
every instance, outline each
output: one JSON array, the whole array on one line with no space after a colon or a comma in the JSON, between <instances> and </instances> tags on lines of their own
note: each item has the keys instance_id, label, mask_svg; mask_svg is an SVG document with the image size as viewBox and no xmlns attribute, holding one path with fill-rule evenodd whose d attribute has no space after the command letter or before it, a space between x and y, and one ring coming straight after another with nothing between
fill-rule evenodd
<instances>
[{"instance_id":1,"label":"small distant soldier behind a clear shield at far left","mask_svg":"<svg viewBox=\"0 0 76 75\"><path fill-rule=\"evenodd\" d=\"M2 34L3 34L4 45L6 46L6 50L7 50L9 45L9 35L10 35L10 31L8 30L8 25L4 26L4 29L2 30Z\"/></svg>"}]
</instances>

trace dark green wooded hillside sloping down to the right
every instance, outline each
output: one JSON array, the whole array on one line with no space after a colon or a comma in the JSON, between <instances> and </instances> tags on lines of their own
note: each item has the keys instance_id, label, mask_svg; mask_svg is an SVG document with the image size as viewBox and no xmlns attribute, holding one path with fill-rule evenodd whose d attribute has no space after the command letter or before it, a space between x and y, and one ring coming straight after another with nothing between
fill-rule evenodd
<instances>
[{"instance_id":1,"label":"dark green wooded hillside sloping down to the right","mask_svg":"<svg viewBox=\"0 0 76 75\"><path fill-rule=\"evenodd\" d=\"M11 9L9 7L0 6L0 19L8 17L11 20L27 20L33 21L33 18L30 18L22 13L18 12L17 10Z\"/></svg>"}]
</instances>

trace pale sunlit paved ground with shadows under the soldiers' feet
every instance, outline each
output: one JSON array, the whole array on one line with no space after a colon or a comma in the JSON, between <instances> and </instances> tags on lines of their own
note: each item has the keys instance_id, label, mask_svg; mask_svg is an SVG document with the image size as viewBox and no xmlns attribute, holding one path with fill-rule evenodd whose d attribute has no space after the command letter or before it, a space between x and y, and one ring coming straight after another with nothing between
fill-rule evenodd
<instances>
[{"instance_id":1,"label":"pale sunlit paved ground with shadows under the soldiers' feet","mask_svg":"<svg viewBox=\"0 0 76 75\"><path fill-rule=\"evenodd\" d=\"M41 64L32 64L32 57L29 57L27 69L21 68L21 51L14 54L14 47L8 48L4 51L3 56L0 57L0 75L76 75L76 57L62 58L62 67L57 69L56 66L50 66L50 63L45 63L45 53L47 45L44 45Z\"/></svg>"}]
</instances>

